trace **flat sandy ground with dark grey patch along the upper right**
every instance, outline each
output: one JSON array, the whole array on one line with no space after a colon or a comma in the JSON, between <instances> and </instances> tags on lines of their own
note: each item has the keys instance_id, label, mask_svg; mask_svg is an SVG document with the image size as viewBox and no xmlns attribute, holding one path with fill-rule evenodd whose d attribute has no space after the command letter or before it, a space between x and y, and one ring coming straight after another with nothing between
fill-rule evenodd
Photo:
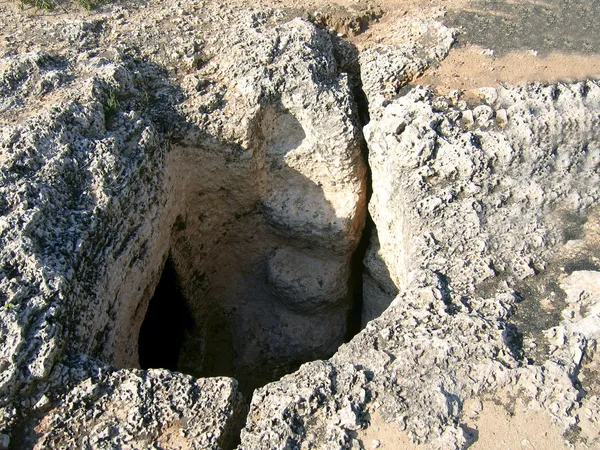
<instances>
[{"instance_id":1,"label":"flat sandy ground with dark grey patch along the upper right","mask_svg":"<svg viewBox=\"0 0 600 450\"><path fill-rule=\"evenodd\" d=\"M354 36L357 47L388 43L394 22L405 15L430 15L457 30L457 45L439 67L415 84L441 93L482 86L572 82L600 77L600 8L567 0L263 0L272 5L324 11L343 23L365 11L379 12L368 29ZM588 6L585 6L589 4ZM577 7L576 7L577 6ZM334 17L337 16L337 21Z\"/></svg>"}]
</instances>

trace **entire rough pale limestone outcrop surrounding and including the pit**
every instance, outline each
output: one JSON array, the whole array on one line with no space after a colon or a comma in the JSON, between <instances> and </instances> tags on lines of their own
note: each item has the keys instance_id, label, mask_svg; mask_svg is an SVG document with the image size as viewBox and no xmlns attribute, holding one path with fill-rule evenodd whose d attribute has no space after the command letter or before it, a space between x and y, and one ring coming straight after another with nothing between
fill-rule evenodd
<instances>
[{"instance_id":1,"label":"entire rough pale limestone outcrop surrounding and including the pit","mask_svg":"<svg viewBox=\"0 0 600 450\"><path fill-rule=\"evenodd\" d=\"M436 96L406 86L453 42L430 16L359 52L234 6L0 42L0 447L364 448L377 413L465 448L474 397L598 446L598 83ZM346 337L363 135L365 327L245 418ZM179 326L175 366L239 387L139 370L165 270L192 324L151 351Z\"/></svg>"}]
</instances>

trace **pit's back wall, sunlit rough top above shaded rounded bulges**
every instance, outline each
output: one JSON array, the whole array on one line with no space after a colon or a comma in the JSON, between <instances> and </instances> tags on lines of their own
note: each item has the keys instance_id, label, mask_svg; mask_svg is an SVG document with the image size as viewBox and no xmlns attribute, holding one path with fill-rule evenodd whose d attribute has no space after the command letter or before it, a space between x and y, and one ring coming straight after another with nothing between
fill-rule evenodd
<instances>
[{"instance_id":1,"label":"pit's back wall, sunlit rough top above shaded rounded bulges","mask_svg":"<svg viewBox=\"0 0 600 450\"><path fill-rule=\"evenodd\" d=\"M227 82L209 117L235 146L200 138L175 149L183 206L171 252L198 322L182 367L245 382L343 342L366 186L330 35L296 19L266 30L242 23L231 36L201 74ZM196 117L196 99L183 107ZM192 362L198 348L204 363Z\"/></svg>"}]
</instances>

